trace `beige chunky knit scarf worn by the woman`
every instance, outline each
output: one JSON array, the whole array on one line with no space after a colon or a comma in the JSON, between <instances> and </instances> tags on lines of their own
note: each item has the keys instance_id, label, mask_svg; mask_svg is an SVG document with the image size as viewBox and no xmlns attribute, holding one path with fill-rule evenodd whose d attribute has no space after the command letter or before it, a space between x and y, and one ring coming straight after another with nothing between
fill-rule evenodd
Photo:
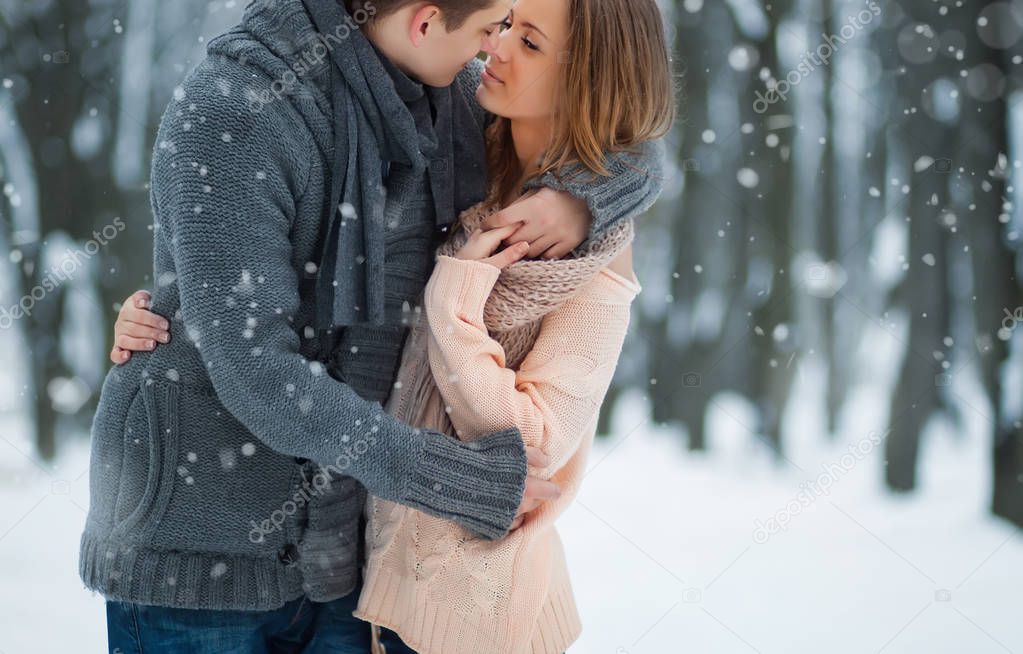
<instances>
[{"instance_id":1,"label":"beige chunky knit scarf worn by the woman","mask_svg":"<svg viewBox=\"0 0 1023 654\"><path fill-rule=\"evenodd\" d=\"M438 255L454 256L469 235L496 210L481 203L468 209ZM561 304L573 298L629 244L634 235L632 220L622 220L563 259L521 260L501 270L483 310L490 337L504 349L505 365L517 369L540 333L540 323ZM422 306L420 296L419 305ZM430 369L430 328L421 312L413 321L398 384L388 398L387 409L395 418L420 429L432 429L456 437L445 410L446 402Z\"/></svg>"}]
</instances>

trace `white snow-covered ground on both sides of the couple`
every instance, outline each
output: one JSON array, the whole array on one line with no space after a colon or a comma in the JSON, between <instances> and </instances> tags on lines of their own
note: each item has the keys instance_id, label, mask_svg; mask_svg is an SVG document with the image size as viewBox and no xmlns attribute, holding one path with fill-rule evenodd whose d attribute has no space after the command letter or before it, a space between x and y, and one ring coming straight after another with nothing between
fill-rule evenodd
<instances>
[{"instance_id":1,"label":"white snow-covered ground on both sides of the couple","mask_svg":"<svg viewBox=\"0 0 1023 654\"><path fill-rule=\"evenodd\" d=\"M909 496L882 490L887 384L858 387L828 444L819 370L799 380L781 465L741 398L715 398L711 452L694 455L626 396L561 526L584 622L571 652L1023 653L1023 534L987 513L988 430L969 376L954 390L977 408L962 431L931 425ZM0 653L102 652L103 604L77 574L88 446L36 465L24 426L3 425Z\"/></svg>"}]
</instances>

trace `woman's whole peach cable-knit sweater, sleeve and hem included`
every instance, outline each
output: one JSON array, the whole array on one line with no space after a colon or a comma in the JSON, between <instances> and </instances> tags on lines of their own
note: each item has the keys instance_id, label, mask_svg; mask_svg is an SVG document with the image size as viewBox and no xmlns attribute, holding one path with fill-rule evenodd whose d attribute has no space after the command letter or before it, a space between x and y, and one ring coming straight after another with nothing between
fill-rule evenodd
<instances>
[{"instance_id":1,"label":"woman's whole peach cable-knit sweater, sleeve and hem included","mask_svg":"<svg viewBox=\"0 0 1023 654\"><path fill-rule=\"evenodd\" d=\"M484 323L500 270L440 256L424 302L430 366L462 440L518 427L563 494L501 540L370 497L355 615L420 654L555 654L581 631L554 520L575 497L641 287L604 268L542 320L518 369ZM392 394L394 395L394 394Z\"/></svg>"}]
</instances>

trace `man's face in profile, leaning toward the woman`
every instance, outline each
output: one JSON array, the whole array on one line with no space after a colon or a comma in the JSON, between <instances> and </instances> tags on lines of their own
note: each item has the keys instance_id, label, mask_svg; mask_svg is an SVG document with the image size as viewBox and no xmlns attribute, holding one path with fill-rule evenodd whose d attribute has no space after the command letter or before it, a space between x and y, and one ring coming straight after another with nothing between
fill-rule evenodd
<instances>
[{"instance_id":1,"label":"man's face in profile, leaning toward the woman","mask_svg":"<svg viewBox=\"0 0 1023 654\"><path fill-rule=\"evenodd\" d=\"M406 63L409 73L429 86L450 86L473 57L497 47L501 24L514 5L515 0L496 0L452 32L444 27L441 14L431 18L417 56Z\"/></svg>"}]
</instances>

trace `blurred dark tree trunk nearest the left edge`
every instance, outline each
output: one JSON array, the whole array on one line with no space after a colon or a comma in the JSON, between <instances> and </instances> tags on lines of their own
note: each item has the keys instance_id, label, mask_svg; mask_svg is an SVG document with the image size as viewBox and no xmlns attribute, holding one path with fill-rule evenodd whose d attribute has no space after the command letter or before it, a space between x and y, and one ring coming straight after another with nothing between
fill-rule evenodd
<instances>
[{"instance_id":1,"label":"blurred dark tree trunk nearest the left edge","mask_svg":"<svg viewBox=\"0 0 1023 654\"><path fill-rule=\"evenodd\" d=\"M114 9L105 7L99 12L113 14ZM0 50L0 61L5 72L15 77L12 93L17 122L36 166L38 233L14 239L21 256L15 293L17 298L32 299L31 315L18 326L31 352L31 413L37 450L44 460L51 460L56 451L58 421L50 388L55 380L71 375L69 362L60 354L66 296L75 284L95 282L93 271L103 268L105 252L101 249L95 255L100 261L78 256L70 272L56 273L51 267L54 251L48 244L59 233L71 238L72 248L89 241L99 243L94 230L101 230L123 209L102 159L108 154L108 139L101 136L105 117L98 112L106 107L104 97L115 95L107 85L116 77L118 57L110 56L108 42L87 34L89 26L104 19L90 3L61 0L26 15L24 24L4 23L5 47ZM113 25L112 20L113 15L107 25ZM90 108L97 111L90 115ZM86 127L87 119L95 120ZM92 147L87 143L90 138L100 142ZM56 253L56 258L63 255ZM100 313L110 317L106 316L108 311ZM109 322L102 325L102 336L108 326ZM84 411L81 418L85 426Z\"/></svg>"}]
</instances>

